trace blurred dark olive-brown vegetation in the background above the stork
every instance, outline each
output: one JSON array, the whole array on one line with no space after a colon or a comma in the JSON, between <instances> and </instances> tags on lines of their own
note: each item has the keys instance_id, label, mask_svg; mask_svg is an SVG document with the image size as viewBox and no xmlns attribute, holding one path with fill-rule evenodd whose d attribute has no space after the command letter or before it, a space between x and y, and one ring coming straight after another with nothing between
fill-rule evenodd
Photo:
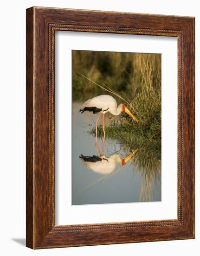
<instances>
[{"instance_id":1,"label":"blurred dark olive-brown vegetation in the background above the stork","mask_svg":"<svg viewBox=\"0 0 200 256\"><path fill-rule=\"evenodd\" d=\"M77 71L90 78L100 85L106 84L115 92L126 91L127 87L141 82L141 69L146 60L155 58L154 65L160 54L132 54L116 52L93 52L93 51L72 51L72 92L74 100L86 100L84 95L94 95L102 93L102 90L91 81L85 81ZM152 66L155 73L156 66ZM151 71L151 70L149 70ZM146 74L145 74L146 75ZM135 91L136 92L136 91Z\"/></svg>"}]
</instances>

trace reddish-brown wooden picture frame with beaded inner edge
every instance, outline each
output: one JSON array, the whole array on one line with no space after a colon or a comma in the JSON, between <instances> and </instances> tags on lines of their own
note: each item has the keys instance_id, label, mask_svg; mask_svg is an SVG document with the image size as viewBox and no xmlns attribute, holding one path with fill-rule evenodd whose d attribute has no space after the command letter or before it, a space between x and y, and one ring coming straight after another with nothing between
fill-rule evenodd
<instances>
[{"instance_id":1,"label":"reddish-brown wooden picture frame with beaded inner edge","mask_svg":"<svg viewBox=\"0 0 200 256\"><path fill-rule=\"evenodd\" d=\"M178 39L178 218L55 225L54 32ZM32 249L194 238L194 17L31 7L26 10L26 246Z\"/></svg>"}]
</instances>

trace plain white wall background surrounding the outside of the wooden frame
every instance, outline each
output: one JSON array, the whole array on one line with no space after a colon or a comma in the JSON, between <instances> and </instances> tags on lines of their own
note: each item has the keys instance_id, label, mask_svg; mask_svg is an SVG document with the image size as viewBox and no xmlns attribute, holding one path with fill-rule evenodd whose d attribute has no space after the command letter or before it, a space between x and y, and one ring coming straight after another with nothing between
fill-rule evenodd
<instances>
[{"instance_id":1,"label":"plain white wall background surrounding the outside of the wooden frame","mask_svg":"<svg viewBox=\"0 0 200 256\"><path fill-rule=\"evenodd\" d=\"M0 252L1 255L199 255L200 157L196 157L196 239L31 250L26 237L26 8L64 7L196 17L196 155L200 155L200 12L195 0L24 0L1 2Z\"/></svg>"}]
</instances>

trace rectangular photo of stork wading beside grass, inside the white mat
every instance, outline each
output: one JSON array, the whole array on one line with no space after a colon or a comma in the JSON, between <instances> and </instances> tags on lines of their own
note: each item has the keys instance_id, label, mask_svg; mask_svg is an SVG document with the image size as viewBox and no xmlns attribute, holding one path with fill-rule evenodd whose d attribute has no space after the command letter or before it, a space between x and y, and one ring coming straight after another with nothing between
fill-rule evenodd
<instances>
[{"instance_id":1,"label":"rectangular photo of stork wading beside grass, inside the white mat","mask_svg":"<svg viewBox=\"0 0 200 256\"><path fill-rule=\"evenodd\" d=\"M161 54L72 50L72 205L161 201Z\"/></svg>"}]
</instances>

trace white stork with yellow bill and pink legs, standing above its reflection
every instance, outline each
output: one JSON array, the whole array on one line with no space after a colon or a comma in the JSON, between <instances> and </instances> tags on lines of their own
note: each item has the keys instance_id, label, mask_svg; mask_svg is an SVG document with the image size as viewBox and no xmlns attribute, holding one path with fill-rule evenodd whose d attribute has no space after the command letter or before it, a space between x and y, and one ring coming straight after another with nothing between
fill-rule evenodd
<instances>
[{"instance_id":1,"label":"white stork with yellow bill and pink legs, standing above its reflection","mask_svg":"<svg viewBox=\"0 0 200 256\"><path fill-rule=\"evenodd\" d=\"M117 107L116 100L110 95L99 95L97 97L94 97L90 100L85 101L85 103L82 105L82 107L80 109L81 113L84 113L84 111L91 111L91 112L93 112L93 114L99 113L99 117L97 118L97 121L95 122L96 134L97 134L97 123L99 121L99 118L103 114L103 133L105 135L104 115L107 112L110 112L112 115L120 115L123 111L125 111L136 122L138 122L137 119L135 118L135 116L130 113L129 109L126 108L126 106L124 104L120 104Z\"/></svg>"}]
</instances>

